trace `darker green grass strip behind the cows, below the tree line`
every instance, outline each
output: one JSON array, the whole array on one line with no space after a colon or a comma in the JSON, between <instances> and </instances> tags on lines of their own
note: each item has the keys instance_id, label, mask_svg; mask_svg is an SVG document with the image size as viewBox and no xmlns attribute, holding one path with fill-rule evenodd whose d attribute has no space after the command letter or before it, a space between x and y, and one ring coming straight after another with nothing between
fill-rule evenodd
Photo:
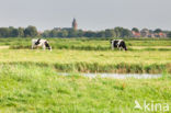
<instances>
[{"instance_id":1,"label":"darker green grass strip behind the cows, below the tree line","mask_svg":"<svg viewBox=\"0 0 171 113\"><path fill-rule=\"evenodd\" d=\"M0 45L8 45L12 49L31 48L32 38L0 38ZM110 39L89 38L47 38L55 49L77 49L77 50L109 50ZM126 39L129 50L171 50L171 39ZM162 46L162 49L157 48ZM139 50L139 49L138 49Z\"/></svg>"}]
</instances>

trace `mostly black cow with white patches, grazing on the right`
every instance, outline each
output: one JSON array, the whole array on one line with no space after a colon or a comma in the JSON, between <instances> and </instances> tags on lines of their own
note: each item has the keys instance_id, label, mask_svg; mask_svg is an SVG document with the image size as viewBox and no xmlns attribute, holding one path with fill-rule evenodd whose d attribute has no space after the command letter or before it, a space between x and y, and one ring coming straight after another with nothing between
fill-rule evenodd
<instances>
[{"instance_id":1,"label":"mostly black cow with white patches, grazing on the right","mask_svg":"<svg viewBox=\"0 0 171 113\"><path fill-rule=\"evenodd\" d=\"M111 39L111 47L112 49L119 48L121 50L123 48L124 50L127 50L126 44L123 39Z\"/></svg>"}]
</instances>

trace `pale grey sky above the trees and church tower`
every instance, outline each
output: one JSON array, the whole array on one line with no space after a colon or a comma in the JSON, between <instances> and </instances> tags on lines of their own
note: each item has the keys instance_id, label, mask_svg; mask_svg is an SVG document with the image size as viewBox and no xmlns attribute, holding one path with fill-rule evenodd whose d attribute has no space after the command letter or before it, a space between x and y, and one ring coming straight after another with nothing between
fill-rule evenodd
<instances>
[{"instance_id":1,"label":"pale grey sky above the trees and church tower","mask_svg":"<svg viewBox=\"0 0 171 113\"><path fill-rule=\"evenodd\" d=\"M0 27L171 30L171 0L0 0Z\"/></svg>"}]
</instances>

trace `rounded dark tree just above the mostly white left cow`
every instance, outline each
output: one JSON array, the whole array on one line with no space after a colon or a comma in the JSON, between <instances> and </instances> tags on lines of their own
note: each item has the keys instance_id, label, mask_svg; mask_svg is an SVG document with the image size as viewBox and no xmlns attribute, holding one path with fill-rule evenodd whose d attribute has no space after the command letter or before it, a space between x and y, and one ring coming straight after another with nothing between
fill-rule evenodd
<instances>
[{"instance_id":1,"label":"rounded dark tree just above the mostly white left cow","mask_svg":"<svg viewBox=\"0 0 171 113\"><path fill-rule=\"evenodd\" d=\"M37 29L35 26L27 26L25 30L24 30L24 36L25 37L35 37L37 36L38 32L37 32Z\"/></svg>"}]
</instances>

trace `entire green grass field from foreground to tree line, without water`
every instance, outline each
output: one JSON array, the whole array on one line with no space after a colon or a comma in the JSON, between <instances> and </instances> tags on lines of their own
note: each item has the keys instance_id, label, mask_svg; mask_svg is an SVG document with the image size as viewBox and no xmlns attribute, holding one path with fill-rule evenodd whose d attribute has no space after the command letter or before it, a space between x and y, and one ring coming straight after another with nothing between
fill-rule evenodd
<instances>
[{"instance_id":1,"label":"entire green grass field from foreground to tree line, without water","mask_svg":"<svg viewBox=\"0 0 171 113\"><path fill-rule=\"evenodd\" d=\"M135 100L168 103L171 111L170 39L126 39L127 52L111 50L105 39L47 39L53 52L30 49L31 38L0 38L0 113L146 113L134 109ZM86 78L79 72L162 78Z\"/></svg>"}]
</instances>

